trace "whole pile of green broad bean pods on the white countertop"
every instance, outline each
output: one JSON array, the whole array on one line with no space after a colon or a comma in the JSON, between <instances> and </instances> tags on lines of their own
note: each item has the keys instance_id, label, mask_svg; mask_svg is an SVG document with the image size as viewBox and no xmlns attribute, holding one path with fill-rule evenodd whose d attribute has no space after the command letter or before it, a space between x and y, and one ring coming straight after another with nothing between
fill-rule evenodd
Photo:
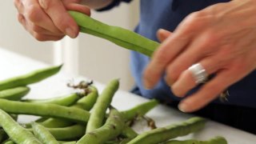
<instances>
[{"instance_id":1,"label":"whole pile of green broad bean pods on the white countertop","mask_svg":"<svg viewBox=\"0 0 256 144\"><path fill-rule=\"evenodd\" d=\"M106 85L99 95L91 82L82 82L73 87L82 89L83 93L44 100L22 98L30 91L28 85L58 73L61 67L51 66L0 82L1 143L227 143L222 137L209 141L171 140L202 129L206 119L199 117L137 134L129 123L157 106L158 101L153 99L130 110L118 111L110 105L118 90L118 79ZM109 113L106 113L108 109ZM34 122L20 124L17 122L18 114L41 117Z\"/></svg>"}]
</instances>

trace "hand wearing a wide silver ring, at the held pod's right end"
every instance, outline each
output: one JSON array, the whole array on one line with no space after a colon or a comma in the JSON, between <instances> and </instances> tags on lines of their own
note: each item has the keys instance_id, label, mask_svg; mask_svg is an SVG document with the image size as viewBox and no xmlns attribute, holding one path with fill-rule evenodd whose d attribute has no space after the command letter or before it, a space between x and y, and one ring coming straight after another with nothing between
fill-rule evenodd
<instances>
[{"instance_id":1,"label":"hand wearing a wide silver ring, at the held pod's right end","mask_svg":"<svg viewBox=\"0 0 256 144\"><path fill-rule=\"evenodd\" d=\"M256 1L234 0L190 14L162 42L144 72L151 89L162 74L178 97L197 86L187 70L200 63L207 74L216 74L196 93L183 99L179 109L192 112L213 101L230 85L256 68ZM163 31L158 32L158 36ZM164 32L166 33L166 32Z\"/></svg>"}]
</instances>

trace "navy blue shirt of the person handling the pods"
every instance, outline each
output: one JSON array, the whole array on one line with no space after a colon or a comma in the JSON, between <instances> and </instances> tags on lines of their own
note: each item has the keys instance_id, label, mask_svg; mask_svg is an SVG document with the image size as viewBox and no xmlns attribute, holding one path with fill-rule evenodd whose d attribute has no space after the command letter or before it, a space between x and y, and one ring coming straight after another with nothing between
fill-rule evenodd
<instances>
[{"instance_id":1,"label":"navy blue shirt of the person handling the pods","mask_svg":"<svg viewBox=\"0 0 256 144\"><path fill-rule=\"evenodd\" d=\"M108 10L113 6L118 6L120 2L130 2L130 0L114 0L114 2L104 8ZM219 2L229 2L229 0L141 0L140 20L135 31L146 38L158 41L156 31L160 28L174 31L176 26L188 14L202 10L207 6ZM142 72L150 58L137 52L131 52L131 71L143 97L158 98L164 101L178 101L170 91L170 87L162 79L153 90L145 90L142 85ZM191 90L190 94L198 88ZM229 101L223 104L256 107L256 71L243 78L240 82L229 87ZM216 99L214 102L219 102ZM219 102L222 103L222 102Z\"/></svg>"}]
</instances>

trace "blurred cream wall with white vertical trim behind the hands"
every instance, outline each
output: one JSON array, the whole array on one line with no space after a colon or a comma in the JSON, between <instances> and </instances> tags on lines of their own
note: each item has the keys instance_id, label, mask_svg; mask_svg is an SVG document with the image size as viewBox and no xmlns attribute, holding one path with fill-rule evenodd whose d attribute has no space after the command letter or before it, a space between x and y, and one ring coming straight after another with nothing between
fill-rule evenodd
<instances>
[{"instance_id":1,"label":"blurred cream wall with white vertical trim behind the hands","mask_svg":"<svg viewBox=\"0 0 256 144\"><path fill-rule=\"evenodd\" d=\"M102 38L79 34L59 42L38 42L18 23L14 2L0 2L0 47L50 65L64 63L63 71L107 83L121 79L122 90L130 90L130 51ZM138 1L122 3L106 12L92 11L91 17L114 26L134 30L138 23Z\"/></svg>"}]
</instances>

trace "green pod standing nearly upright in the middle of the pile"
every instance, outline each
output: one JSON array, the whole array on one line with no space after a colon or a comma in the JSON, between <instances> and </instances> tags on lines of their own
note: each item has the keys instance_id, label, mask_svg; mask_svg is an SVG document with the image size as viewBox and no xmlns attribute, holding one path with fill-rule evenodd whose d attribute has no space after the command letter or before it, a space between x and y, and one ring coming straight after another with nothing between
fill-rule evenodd
<instances>
[{"instance_id":1,"label":"green pod standing nearly upright in the middle of the pile","mask_svg":"<svg viewBox=\"0 0 256 144\"><path fill-rule=\"evenodd\" d=\"M102 91L102 94L98 97L92 112L90 114L89 121L86 127L86 133L94 129L98 129L102 126L103 120L106 115L106 109L110 106L110 102L114 96L114 93L118 90L119 80L114 79L110 81L106 88Z\"/></svg>"}]
</instances>

